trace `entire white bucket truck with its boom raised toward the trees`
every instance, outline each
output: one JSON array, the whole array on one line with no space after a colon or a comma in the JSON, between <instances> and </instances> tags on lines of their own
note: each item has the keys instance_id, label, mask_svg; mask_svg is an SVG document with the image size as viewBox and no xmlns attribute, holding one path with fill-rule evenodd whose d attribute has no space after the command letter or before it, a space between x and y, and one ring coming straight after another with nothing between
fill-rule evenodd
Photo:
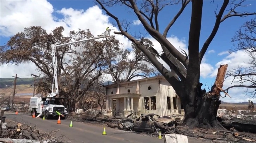
<instances>
[{"instance_id":1,"label":"entire white bucket truck with its boom raised toward the trees","mask_svg":"<svg viewBox=\"0 0 256 143\"><path fill-rule=\"evenodd\" d=\"M58 88L58 80L57 80L56 48L61 46L71 45L74 43L79 43L79 42L86 42L86 41L95 40L95 39L107 38L110 36L110 31L111 29L107 28L106 32L104 32L104 36L98 36L94 38L64 43L60 45L54 45L54 44L51 45L51 56L52 56L53 71L54 71L52 90L51 90L51 93L47 94L47 97L31 97L30 98L29 110L31 112L31 115L33 114L35 114L35 116L38 115L37 117L43 115L45 116L45 119L58 116L56 111L63 115L61 116L62 119L65 119L66 116L68 115L67 108L64 105L62 105L59 100L69 99L69 98L57 97L59 95L59 88ZM54 92L54 89L55 89L55 92Z\"/></svg>"}]
</instances>

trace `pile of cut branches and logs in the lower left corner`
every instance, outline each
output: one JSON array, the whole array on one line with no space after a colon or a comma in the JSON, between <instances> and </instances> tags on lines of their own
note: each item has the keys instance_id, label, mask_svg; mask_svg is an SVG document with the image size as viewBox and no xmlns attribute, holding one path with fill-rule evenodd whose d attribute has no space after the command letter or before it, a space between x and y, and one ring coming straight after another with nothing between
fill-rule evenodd
<instances>
[{"instance_id":1,"label":"pile of cut branches and logs in the lower left corner","mask_svg":"<svg viewBox=\"0 0 256 143\"><path fill-rule=\"evenodd\" d=\"M31 127L27 124L21 124L10 121L0 123L0 140L1 142L33 142L33 143L63 143L61 139L64 136L54 137L58 130L49 133L39 132L36 126Z\"/></svg>"}]
</instances>

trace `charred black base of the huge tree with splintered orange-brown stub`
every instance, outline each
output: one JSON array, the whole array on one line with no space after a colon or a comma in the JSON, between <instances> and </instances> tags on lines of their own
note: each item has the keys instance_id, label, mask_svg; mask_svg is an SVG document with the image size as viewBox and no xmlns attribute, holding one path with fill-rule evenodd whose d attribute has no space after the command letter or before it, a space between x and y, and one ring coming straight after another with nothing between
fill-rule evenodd
<instances>
[{"instance_id":1,"label":"charred black base of the huge tree with splintered orange-brown stub","mask_svg":"<svg viewBox=\"0 0 256 143\"><path fill-rule=\"evenodd\" d=\"M202 84L200 83L197 86L198 90L196 92L190 92L195 93L194 95L181 96L181 102L185 111L184 126L189 128L204 127L208 129L224 129L218 122L216 116L221 103L219 100L220 91L223 90L222 86L226 69L227 64L220 66L215 83L210 92L206 93L205 89L201 90Z\"/></svg>"}]
</instances>

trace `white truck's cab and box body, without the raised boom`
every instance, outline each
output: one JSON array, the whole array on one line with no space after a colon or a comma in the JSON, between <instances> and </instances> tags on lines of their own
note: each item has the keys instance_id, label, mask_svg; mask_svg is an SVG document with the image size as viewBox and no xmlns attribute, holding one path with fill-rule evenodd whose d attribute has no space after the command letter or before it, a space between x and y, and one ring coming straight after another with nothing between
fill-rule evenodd
<instances>
[{"instance_id":1,"label":"white truck's cab and box body, without the raised boom","mask_svg":"<svg viewBox=\"0 0 256 143\"><path fill-rule=\"evenodd\" d=\"M56 111L63 115L62 119L65 119L68 115L67 108L60 103L60 99L64 98L55 98L55 97L31 97L29 110L31 115L35 113L37 115L43 115L45 119L49 119L51 117L57 117Z\"/></svg>"}]
</instances>

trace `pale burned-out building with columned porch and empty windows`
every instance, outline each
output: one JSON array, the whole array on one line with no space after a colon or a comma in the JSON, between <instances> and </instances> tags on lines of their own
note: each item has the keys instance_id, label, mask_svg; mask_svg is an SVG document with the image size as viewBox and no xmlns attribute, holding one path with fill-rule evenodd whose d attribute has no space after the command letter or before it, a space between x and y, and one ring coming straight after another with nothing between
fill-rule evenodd
<instances>
[{"instance_id":1,"label":"pale burned-out building with columned porch and empty windows","mask_svg":"<svg viewBox=\"0 0 256 143\"><path fill-rule=\"evenodd\" d=\"M125 117L154 113L159 116L182 116L184 110L175 90L163 76L110 84L106 88L108 116Z\"/></svg>"}]
</instances>

